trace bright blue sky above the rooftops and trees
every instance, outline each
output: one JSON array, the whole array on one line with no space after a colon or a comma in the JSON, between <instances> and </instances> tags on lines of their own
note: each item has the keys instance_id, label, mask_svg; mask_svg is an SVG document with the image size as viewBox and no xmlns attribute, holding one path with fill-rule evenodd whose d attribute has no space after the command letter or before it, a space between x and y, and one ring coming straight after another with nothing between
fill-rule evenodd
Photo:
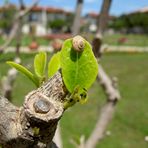
<instances>
[{"instance_id":1,"label":"bright blue sky above the rooftops and trees","mask_svg":"<svg viewBox=\"0 0 148 148\"><path fill-rule=\"evenodd\" d=\"M0 0L0 5L4 0ZM18 0L9 0L12 3L18 3ZM33 0L24 0L29 5ZM60 7L67 10L74 10L77 0L40 0L42 6ZM94 11L99 12L103 0L84 0L83 14ZM112 15L121 15L134 10L148 6L148 0L113 0L110 13Z\"/></svg>"}]
</instances>

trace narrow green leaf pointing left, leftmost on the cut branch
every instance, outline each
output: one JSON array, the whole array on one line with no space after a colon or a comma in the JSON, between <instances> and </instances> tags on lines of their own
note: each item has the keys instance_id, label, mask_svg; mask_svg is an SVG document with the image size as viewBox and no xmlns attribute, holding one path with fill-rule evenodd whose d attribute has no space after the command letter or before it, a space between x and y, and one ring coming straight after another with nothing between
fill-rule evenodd
<instances>
[{"instance_id":1,"label":"narrow green leaf pointing left, leftmost on the cut branch","mask_svg":"<svg viewBox=\"0 0 148 148\"><path fill-rule=\"evenodd\" d=\"M39 86L39 80L27 68L11 61L7 61L7 64L27 76L37 87Z\"/></svg>"}]
</instances>

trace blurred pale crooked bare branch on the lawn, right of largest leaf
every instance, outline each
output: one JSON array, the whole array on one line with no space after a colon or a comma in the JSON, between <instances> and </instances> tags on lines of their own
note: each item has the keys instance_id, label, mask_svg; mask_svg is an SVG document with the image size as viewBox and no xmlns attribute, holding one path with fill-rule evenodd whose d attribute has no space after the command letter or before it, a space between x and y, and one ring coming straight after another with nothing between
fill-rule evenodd
<instances>
[{"instance_id":1,"label":"blurred pale crooked bare branch on the lawn, right of largest leaf","mask_svg":"<svg viewBox=\"0 0 148 148\"><path fill-rule=\"evenodd\" d=\"M113 117L115 105L120 99L120 93L117 89L117 81L111 81L101 65L99 65L98 80L106 92L107 102L102 107L100 117L98 118L92 134L86 141L85 148L95 148L97 143L103 138L106 128Z\"/></svg>"}]
</instances>

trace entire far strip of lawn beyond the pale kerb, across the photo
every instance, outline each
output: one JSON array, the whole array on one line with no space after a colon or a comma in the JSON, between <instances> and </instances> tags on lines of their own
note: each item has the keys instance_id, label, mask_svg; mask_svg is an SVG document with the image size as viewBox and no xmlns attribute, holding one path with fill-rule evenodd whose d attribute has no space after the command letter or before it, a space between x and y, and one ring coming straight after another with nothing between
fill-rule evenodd
<instances>
[{"instance_id":1,"label":"entire far strip of lawn beyond the pale kerb, across the photo","mask_svg":"<svg viewBox=\"0 0 148 148\"><path fill-rule=\"evenodd\" d=\"M93 35L83 34L90 42L93 39ZM124 38L126 41L123 43L119 43L119 40ZM123 40L124 40L123 39ZM36 41L39 45L49 45L51 39L45 39L42 37L36 37ZM32 42L32 37L29 35L22 36L22 46L28 46ZM0 46L4 43L4 39L0 37ZM148 36L147 35L135 35L135 34L113 34L113 35L105 35L103 37L103 43L109 45L126 45L126 46L148 46ZM16 40L14 39L11 43L11 46L16 46Z\"/></svg>"}]
</instances>

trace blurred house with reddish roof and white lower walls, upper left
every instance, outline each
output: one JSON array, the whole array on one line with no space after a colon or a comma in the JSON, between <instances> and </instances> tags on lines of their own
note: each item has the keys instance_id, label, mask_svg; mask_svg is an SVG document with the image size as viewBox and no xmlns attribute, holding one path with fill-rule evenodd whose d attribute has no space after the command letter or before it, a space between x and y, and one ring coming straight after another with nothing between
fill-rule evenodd
<instances>
[{"instance_id":1,"label":"blurred house with reddish roof and white lower walls, upper left","mask_svg":"<svg viewBox=\"0 0 148 148\"><path fill-rule=\"evenodd\" d=\"M15 5L9 5L7 7L0 7L0 19L3 17L5 20L4 10L17 10ZM52 30L47 26L48 23L54 20L66 20L71 15L71 12L65 11L60 8L35 6L31 11L23 17L22 32L24 34L32 33L36 36L43 36L47 33L51 33Z\"/></svg>"}]
</instances>

